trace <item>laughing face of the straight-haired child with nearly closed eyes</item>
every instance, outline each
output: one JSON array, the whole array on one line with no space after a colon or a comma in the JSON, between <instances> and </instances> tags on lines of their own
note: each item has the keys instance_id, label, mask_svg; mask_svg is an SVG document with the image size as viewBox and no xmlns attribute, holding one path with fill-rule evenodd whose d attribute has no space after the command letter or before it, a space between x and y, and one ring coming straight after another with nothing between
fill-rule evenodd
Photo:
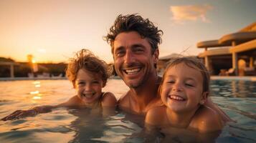
<instances>
[{"instance_id":1,"label":"laughing face of the straight-haired child with nearly closed eyes","mask_svg":"<svg viewBox=\"0 0 256 143\"><path fill-rule=\"evenodd\" d=\"M203 77L199 70L183 63L176 64L166 71L161 99L174 112L191 112L206 99L206 92L202 92L202 82Z\"/></svg>"}]
</instances>

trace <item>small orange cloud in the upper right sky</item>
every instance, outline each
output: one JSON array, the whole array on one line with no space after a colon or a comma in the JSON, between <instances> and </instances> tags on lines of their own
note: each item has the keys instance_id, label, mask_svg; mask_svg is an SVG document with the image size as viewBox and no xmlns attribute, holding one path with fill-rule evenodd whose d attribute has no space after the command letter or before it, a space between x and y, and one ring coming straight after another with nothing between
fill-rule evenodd
<instances>
[{"instance_id":1,"label":"small orange cloud in the upper right sky","mask_svg":"<svg viewBox=\"0 0 256 143\"><path fill-rule=\"evenodd\" d=\"M170 11L173 14L171 19L179 24L183 24L184 21L197 21L199 19L201 19L203 22L210 22L206 17L207 11L210 9L212 9L212 6L208 4L194 6L171 6Z\"/></svg>"}]
</instances>

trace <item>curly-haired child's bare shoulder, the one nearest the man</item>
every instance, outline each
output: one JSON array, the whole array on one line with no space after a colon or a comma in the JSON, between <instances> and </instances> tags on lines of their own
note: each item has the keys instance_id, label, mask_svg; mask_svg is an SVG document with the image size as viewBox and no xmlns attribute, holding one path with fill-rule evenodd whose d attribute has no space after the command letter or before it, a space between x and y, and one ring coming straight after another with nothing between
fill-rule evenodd
<instances>
[{"instance_id":1,"label":"curly-haired child's bare shoulder, the one nearest the man","mask_svg":"<svg viewBox=\"0 0 256 143\"><path fill-rule=\"evenodd\" d=\"M103 98L101 101L103 107L115 107L117 104L117 100L115 99L115 95L111 92L105 92L103 94Z\"/></svg>"}]
</instances>

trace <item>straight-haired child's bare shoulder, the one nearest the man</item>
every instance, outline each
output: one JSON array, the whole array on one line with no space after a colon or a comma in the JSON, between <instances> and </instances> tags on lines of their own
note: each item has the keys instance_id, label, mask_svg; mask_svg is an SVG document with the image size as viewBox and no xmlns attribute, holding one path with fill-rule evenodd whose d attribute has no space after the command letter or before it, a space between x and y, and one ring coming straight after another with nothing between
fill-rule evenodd
<instances>
[{"instance_id":1,"label":"straight-haired child's bare shoulder, the one nearest the man","mask_svg":"<svg viewBox=\"0 0 256 143\"><path fill-rule=\"evenodd\" d=\"M153 107L148 110L146 114L146 124L151 124L155 126L161 126L163 124L168 124L168 119L166 118L166 107Z\"/></svg>"}]
</instances>

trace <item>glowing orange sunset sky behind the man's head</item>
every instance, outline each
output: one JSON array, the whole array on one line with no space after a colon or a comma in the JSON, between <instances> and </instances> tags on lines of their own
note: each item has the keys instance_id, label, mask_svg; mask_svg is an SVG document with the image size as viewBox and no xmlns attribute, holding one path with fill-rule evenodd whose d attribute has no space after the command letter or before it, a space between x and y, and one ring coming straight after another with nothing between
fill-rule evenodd
<instances>
[{"instance_id":1,"label":"glowing orange sunset sky behind the man's head","mask_svg":"<svg viewBox=\"0 0 256 143\"><path fill-rule=\"evenodd\" d=\"M163 30L160 56L197 55L199 41L219 39L256 21L255 0L0 0L0 56L67 62L87 48L113 61L103 40L118 14L138 13Z\"/></svg>"}]
</instances>

